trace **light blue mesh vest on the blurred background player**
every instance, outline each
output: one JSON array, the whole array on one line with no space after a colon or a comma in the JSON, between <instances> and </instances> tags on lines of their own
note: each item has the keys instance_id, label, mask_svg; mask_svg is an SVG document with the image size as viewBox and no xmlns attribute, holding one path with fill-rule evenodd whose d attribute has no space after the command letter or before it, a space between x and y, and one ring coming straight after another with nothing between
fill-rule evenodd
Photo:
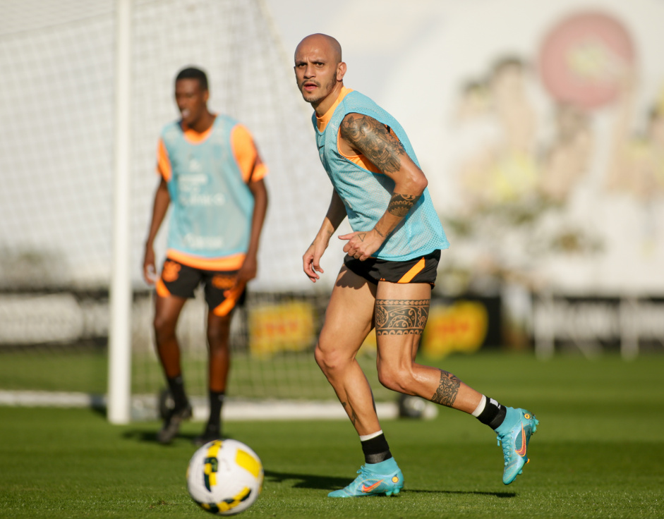
<instances>
[{"instance_id":1,"label":"light blue mesh vest on the blurred background player","mask_svg":"<svg viewBox=\"0 0 664 519\"><path fill-rule=\"evenodd\" d=\"M231 146L236 124L217 115L210 135L197 144L177 122L162 130L172 169L169 249L203 258L248 250L254 200Z\"/></svg>"}]
</instances>

